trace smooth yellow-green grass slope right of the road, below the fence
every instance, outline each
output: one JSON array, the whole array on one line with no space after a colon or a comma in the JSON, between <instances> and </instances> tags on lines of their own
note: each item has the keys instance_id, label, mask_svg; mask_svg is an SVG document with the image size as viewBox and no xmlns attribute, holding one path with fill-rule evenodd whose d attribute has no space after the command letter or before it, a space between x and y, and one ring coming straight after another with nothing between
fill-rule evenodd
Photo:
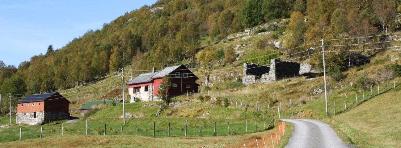
<instances>
[{"instance_id":1,"label":"smooth yellow-green grass slope right of the road, below the fence","mask_svg":"<svg viewBox=\"0 0 401 148\"><path fill-rule=\"evenodd\" d=\"M328 120L339 135L361 148L395 148L401 143L400 87Z\"/></svg>"}]
</instances>

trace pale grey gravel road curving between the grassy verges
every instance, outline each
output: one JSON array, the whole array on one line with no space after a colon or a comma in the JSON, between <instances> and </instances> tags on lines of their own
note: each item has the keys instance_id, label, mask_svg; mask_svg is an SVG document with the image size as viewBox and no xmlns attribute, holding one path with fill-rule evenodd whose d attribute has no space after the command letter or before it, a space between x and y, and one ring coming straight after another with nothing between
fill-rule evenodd
<instances>
[{"instance_id":1,"label":"pale grey gravel road curving between the grassy verges","mask_svg":"<svg viewBox=\"0 0 401 148\"><path fill-rule=\"evenodd\" d=\"M282 119L295 129L284 148L358 148L342 142L328 125L311 119Z\"/></svg>"}]
</instances>

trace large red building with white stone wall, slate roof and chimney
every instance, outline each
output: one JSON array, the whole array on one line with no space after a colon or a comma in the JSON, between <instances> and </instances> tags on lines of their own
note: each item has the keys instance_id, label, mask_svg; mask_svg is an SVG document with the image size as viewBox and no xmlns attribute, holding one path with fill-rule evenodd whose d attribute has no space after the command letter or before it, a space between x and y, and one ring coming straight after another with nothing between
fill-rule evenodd
<instances>
[{"instance_id":1,"label":"large red building with white stone wall, slate roof and chimney","mask_svg":"<svg viewBox=\"0 0 401 148\"><path fill-rule=\"evenodd\" d=\"M131 95L130 102L135 102L136 98L141 101L159 100L158 91L162 79L166 76L170 76L171 79L169 95L176 96L182 95L182 93L198 92L199 85L196 84L196 80L199 78L184 65L166 67L161 71L156 71L153 67L152 73L138 75L127 83L128 93Z\"/></svg>"}]
</instances>

